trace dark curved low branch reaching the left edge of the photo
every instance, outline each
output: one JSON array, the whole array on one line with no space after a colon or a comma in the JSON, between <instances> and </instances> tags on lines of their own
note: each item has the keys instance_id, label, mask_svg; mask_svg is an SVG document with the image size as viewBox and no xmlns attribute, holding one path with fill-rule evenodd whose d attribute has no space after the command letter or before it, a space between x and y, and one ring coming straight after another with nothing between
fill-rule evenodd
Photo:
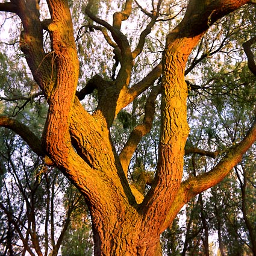
<instances>
[{"instance_id":1,"label":"dark curved low branch reaching the left edge of the photo","mask_svg":"<svg viewBox=\"0 0 256 256\"><path fill-rule=\"evenodd\" d=\"M7 116L0 116L0 126L8 128L19 134L19 136L28 143L30 148L37 155L40 155L42 157L46 155L45 151L43 151L43 148L41 146L40 139L32 131L30 131L30 129L26 125L23 125L23 123L20 123L17 120Z\"/></svg>"}]
</instances>

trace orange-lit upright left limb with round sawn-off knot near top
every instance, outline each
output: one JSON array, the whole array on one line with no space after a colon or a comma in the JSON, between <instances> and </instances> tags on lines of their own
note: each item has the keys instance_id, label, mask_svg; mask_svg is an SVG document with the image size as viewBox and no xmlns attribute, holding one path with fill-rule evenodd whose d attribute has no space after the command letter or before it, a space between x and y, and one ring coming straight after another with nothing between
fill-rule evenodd
<instances>
[{"instance_id":1,"label":"orange-lit upright left limb with round sawn-off knot near top","mask_svg":"<svg viewBox=\"0 0 256 256\"><path fill-rule=\"evenodd\" d=\"M67 1L49 0L48 7L52 17L48 29L52 37L52 48L57 56L57 76L54 89L48 97L49 110L43 143L55 163L60 163L69 158L69 115L78 82L79 61Z\"/></svg>"}]
</instances>

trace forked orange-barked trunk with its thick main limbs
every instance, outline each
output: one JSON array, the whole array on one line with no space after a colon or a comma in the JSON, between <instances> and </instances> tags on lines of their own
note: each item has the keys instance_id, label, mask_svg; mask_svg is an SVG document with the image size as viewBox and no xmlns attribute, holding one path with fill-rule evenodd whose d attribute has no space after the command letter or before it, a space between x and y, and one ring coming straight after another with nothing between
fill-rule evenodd
<instances>
[{"instance_id":1,"label":"forked orange-barked trunk with its thick main limbs","mask_svg":"<svg viewBox=\"0 0 256 256\"><path fill-rule=\"evenodd\" d=\"M211 172L181 182L184 147L189 134L184 80L187 58L210 25L249 0L190 0L184 19L167 36L163 54L157 172L144 199L128 184L110 139L111 123L120 109L128 104L126 98L131 97L128 86L134 55L118 24L114 22L111 27L107 22L94 19L111 31L123 56L120 75L104 90L98 109L91 115L75 97L79 61L68 2L47 1L52 19L46 20L45 26L51 35L52 56L45 55L43 49L42 22L36 1L11 2L15 3L1 6L14 11L22 20L24 31L20 47L49 103L42 136L43 154L34 148L40 155L51 158L51 163L85 196L92 216L95 256L160 256L160 234L181 207L192 196L219 183L256 140L255 121L245 139ZM127 12L119 13L122 14L120 20L129 16L131 2L126 1ZM20 127L23 126L19 125L18 129L10 119L0 120L0 125L11 126L21 134ZM28 136L23 134L23 137ZM30 142L28 138L27 142Z\"/></svg>"}]
</instances>

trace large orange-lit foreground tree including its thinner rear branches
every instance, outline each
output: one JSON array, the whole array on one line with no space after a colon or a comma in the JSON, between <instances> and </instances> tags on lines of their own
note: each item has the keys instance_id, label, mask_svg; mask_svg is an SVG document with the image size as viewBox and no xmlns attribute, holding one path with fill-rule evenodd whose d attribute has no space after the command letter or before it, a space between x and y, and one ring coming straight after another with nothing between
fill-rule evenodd
<instances>
[{"instance_id":1,"label":"large orange-lit foreground tree including its thinner rear branches","mask_svg":"<svg viewBox=\"0 0 256 256\"><path fill-rule=\"evenodd\" d=\"M225 148L222 158L211 170L182 180L184 149L189 136L188 85L184 78L187 60L216 20L255 2L190 0L181 22L165 35L161 60L140 81L131 78L136 67L134 63L146 47L146 37L155 23L163 20L161 8L167 5L173 11L179 2L152 1L151 10L135 2L147 18L147 25L134 50L121 30L121 25L129 20L136 6L133 1L126 0L122 10L114 13L112 25L97 14L97 8L104 1L89 0L82 8L89 20L84 26L101 31L113 48L115 72L96 74L78 92L80 61L69 2L48 0L51 19L44 20L40 20L38 1L11 0L0 4L1 11L19 16L23 29L20 49L49 105L41 139L14 118L1 116L0 125L19 134L36 154L44 158L45 164L58 167L83 194L92 217L95 255L160 255L160 234L170 226L183 205L222 181L256 139L254 120L245 137ZM50 46L44 45L44 31L49 35L46 39ZM252 63L253 70L255 63L250 54L248 63ZM93 60L87 61L93 63ZM116 69L117 64L119 69ZM155 83L160 76L161 83ZM80 101L95 89L98 101L95 110L89 113ZM110 133L113 122L123 108L145 91L148 99L143 121L134 127L117 154ZM140 140L151 130L155 99L159 93L158 161L151 187L143 195L129 183L128 166ZM191 148L192 151L207 155L199 149Z\"/></svg>"}]
</instances>

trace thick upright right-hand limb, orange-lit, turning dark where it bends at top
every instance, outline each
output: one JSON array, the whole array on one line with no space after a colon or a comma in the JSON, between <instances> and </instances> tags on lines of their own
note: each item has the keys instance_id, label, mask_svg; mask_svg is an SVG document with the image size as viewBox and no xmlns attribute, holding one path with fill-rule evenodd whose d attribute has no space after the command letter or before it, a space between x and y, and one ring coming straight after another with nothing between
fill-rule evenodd
<instances>
[{"instance_id":1,"label":"thick upright right-hand limb, orange-lit, turning dark where it bends at top","mask_svg":"<svg viewBox=\"0 0 256 256\"><path fill-rule=\"evenodd\" d=\"M210 25L247 2L249 1L190 0L184 19L166 38L157 173L151 190L139 208L147 220L158 219L159 231L155 225L154 232L161 233L167 228L166 220L169 219L170 209L173 210L172 204L176 204L175 198L180 200L178 196L183 176L184 148L189 134L187 84L184 80L187 58ZM195 184L193 183L194 186L197 186L196 184L199 184L198 178ZM201 187L198 186L198 189ZM188 188L188 193L190 190L193 190L192 186ZM199 192L196 191L193 195ZM163 205L163 201L167 204ZM149 226L145 225L145 229L149 233L153 232Z\"/></svg>"}]
</instances>

